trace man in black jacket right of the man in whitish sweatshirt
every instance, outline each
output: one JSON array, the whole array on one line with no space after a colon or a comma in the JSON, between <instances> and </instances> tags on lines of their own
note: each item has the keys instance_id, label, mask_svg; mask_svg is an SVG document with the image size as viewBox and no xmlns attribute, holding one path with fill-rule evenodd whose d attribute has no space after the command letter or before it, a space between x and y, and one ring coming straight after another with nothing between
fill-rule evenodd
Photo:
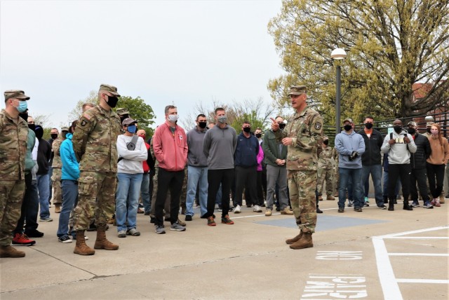
<instances>
[{"instance_id":1,"label":"man in black jacket right of the man in whitish sweatshirt","mask_svg":"<svg viewBox=\"0 0 449 300\"><path fill-rule=\"evenodd\" d=\"M410 174L410 197L413 201L412 207L420 207L418 203L418 191L416 184L420 189L420 195L424 201L424 208L434 208L429 203L429 194L427 193L427 171L426 171L426 159L429 158L431 153L429 139L426 136L420 135L417 131L417 123L408 122L408 133L412 135L417 146L416 152L410 154L410 165L412 166L412 172Z\"/></svg>"}]
</instances>

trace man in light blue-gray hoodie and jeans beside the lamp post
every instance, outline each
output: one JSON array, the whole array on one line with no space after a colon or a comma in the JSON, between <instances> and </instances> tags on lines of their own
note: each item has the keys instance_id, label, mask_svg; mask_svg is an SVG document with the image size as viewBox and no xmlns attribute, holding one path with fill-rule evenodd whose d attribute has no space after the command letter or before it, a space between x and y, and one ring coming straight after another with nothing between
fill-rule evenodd
<instances>
[{"instance_id":1,"label":"man in light blue-gray hoodie and jeans beside the lamp post","mask_svg":"<svg viewBox=\"0 0 449 300\"><path fill-rule=\"evenodd\" d=\"M362 200L361 175L362 159L365 152L363 137L354 132L354 121L345 118L341 133L335 137L335 150L338 152L338 172L340 175L340 186L338 189L338 212L344 212L344 201L346 200L346 189L349 180L352 182L352 196L354 210L361 212L364 201Z\"/></svg>"}]
</instances>

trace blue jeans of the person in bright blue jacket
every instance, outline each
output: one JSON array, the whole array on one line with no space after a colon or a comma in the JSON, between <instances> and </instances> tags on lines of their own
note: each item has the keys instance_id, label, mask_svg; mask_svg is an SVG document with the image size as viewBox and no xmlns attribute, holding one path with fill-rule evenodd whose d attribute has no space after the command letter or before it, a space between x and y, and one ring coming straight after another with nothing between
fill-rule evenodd
<instances>
[{"instance_id":1,"label":"blue jeans of the person in bright blue jacket","mask_svg":"<svg viewBox=\"0 0 449 300\"><path fill-rule=\"evenodd\" d=\"M74 180L62 179L61 190L64 201L62 201L61 213L59 215L58 233L56 233L58 238L69 234L70 212L72 212L76 206L76 203L78 203L78 182Z\"/></svg>"}]
</instances>

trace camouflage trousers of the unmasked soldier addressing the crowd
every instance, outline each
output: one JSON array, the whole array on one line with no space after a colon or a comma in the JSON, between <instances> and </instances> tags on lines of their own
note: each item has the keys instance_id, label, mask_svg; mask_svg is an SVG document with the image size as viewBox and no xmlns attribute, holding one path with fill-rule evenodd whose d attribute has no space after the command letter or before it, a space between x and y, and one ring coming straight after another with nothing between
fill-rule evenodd
<instances>
[{"instance_id":1,"label":"camouflage trousers of the unmasked soldier addressing the crowd","mask_svg":"<svg viewBox=\"0 0 449 300\"><path fill-rule=\"evenodd\" d=\"M290 203L296 224L304 233L314 233L316 226L316 171L288 170Z\"/></svg>"}]
</instances>

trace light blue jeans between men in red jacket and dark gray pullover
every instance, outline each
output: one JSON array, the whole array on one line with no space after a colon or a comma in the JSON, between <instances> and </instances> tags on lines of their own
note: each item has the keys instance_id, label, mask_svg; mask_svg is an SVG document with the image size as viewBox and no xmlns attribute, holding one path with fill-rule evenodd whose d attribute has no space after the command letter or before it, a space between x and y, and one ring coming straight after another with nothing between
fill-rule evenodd
<instances>
[{"instance_id":1,"label":"light blue jeans between men in red jacket and dark gray pullover","mask_svg":"<svg viewBox=\"0 0 449 300\"><path fill-rule=\"evenodd\" d=\"M199 185L199 205L201 216L208 212L208 168L187 166L187 198L185 200L185 215L194 215L196 186Z\"/></svg>"}]
</instances>

